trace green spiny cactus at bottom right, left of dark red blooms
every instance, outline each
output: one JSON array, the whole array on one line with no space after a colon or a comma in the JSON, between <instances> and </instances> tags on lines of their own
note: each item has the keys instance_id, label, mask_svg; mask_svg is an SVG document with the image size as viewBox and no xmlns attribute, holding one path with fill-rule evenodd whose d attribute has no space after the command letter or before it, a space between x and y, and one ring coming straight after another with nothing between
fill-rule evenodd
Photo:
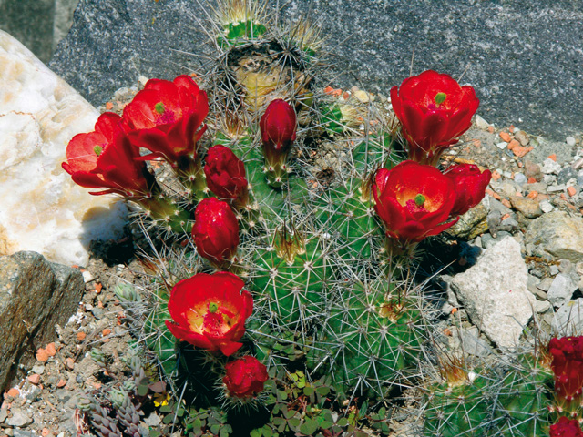
<instances>
[{"instance_id":1,"label":"green spiny cactus at bottom right, left of dark red blooms","mask_svg":"<svg viewBox=\"0 0 583 437\"><path fill-rule=\"evenodd\" d=\"M553 374L544 353L527 351L506 359L476 363L442 353L439 376L425 386L425 435L546 437Z\"/></svg>"}]
</instances>

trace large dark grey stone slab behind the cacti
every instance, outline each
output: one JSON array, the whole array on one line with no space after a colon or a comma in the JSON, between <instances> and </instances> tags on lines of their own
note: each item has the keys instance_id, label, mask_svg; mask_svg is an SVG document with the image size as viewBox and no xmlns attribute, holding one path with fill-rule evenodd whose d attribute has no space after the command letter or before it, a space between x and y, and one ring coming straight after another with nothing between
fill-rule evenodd
<instances>
[{"instance_id":1,"label":"large dark grey stone slab behind the cacti","mask_svg":"<svg viewBox=\"0 0 583 437\"><path fill-rule=\"evenodd\" d=\"M28 3L28 2L21 2ZM101 105L138 76L172 78L214 53L203 32L215 2L81 0L50 66ZM210 4L210 5L209 5ZM500 126L565 137L583 131L579 111L581 8L568 0L431 2L291 0L281 21L307 15L328 36L329 76L385 95L433 68L476 86L478 113ZM305 19L305 18L304 18ZM195 55L189 55L193 53ZM532 153L532 152L531 152ZM546 157L545 157L546 158Z\"/></svg>"}]
</instances>

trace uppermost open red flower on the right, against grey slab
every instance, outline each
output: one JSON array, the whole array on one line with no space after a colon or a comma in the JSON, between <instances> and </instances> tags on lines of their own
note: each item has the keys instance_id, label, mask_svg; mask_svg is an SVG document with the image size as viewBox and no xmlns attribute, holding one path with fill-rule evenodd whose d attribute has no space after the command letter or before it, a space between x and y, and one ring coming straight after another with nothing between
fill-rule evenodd
<instances>
[{"instance_id":1,"label":"uppermost open red flower on the right, against grey slab","mask_svg":"<svg viewBox=\"0 0 583 437\"><path fill-rule=\"evenodd\" d=\"M443 150L472 125L480 101L472 86L427 70L391 88L391 103L409 143L409 158L435 165Z\"/></svg>"}]
</instances>

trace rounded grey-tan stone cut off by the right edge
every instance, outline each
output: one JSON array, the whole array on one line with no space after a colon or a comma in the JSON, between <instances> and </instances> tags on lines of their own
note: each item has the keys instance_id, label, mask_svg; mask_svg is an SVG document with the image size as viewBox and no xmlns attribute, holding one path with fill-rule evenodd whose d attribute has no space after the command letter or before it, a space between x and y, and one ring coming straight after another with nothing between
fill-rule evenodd
<instances>
[{"instance_id":1,"label":"rounded grey-tan stone cut off by the right edge","mask_svg":"<svg viewBox=\"0 0 583 437\"><path fill-rule=\"evenodd\" d=\"M541 202L542 207L542 202ZM544 210L544 209L543 209ZM531 248L527 255L583 260L583 219L571 217L564 211L552 211L528 226L525 245Z\"/></svg>"}]
</instances>

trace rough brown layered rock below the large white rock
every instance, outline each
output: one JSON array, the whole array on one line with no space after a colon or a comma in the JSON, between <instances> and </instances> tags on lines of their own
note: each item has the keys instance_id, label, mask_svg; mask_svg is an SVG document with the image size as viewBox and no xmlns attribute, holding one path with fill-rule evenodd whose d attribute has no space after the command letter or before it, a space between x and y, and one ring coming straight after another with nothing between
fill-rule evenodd
<instances>
[{"instance_id":1,"label":"rough brown layered rock below the large white rock","mask_svg":"<svg viewBox=\"0 0 583 437\"><path fill-rule=\"evenodd\" d=\"M0 392L19 362L55 336L77 310L85 285L77 269L50 263L36 252L0 257Z\"/></svg>"}]
</instances>

